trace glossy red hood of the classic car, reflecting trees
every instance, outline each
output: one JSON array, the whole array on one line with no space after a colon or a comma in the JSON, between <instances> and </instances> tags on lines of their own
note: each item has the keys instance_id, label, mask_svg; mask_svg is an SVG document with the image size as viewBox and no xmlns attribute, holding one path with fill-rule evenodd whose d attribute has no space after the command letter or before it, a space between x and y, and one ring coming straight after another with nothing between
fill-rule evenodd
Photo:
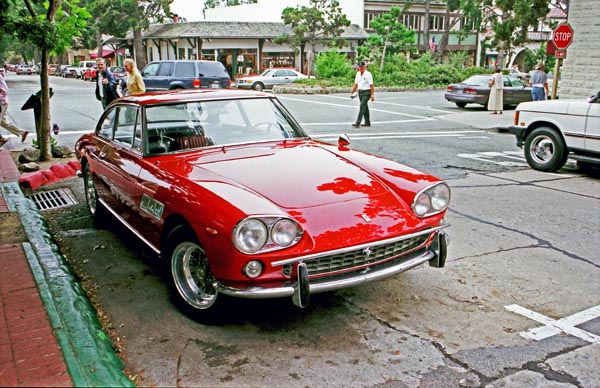
<instances>
[{"instance_id":1,"label":"glossy red hood of the classic car, reflecting trees","mask_svg":"<svg viewBox=\"0 0 600 388\"><path fill-rule=\"evenodd\" d=\"M176 173L191 181L202 184L218 176L286 209L378 197L406 206L376 176L318 143L232 147L195 154L185 159L187 167L178 165Z\"/></svg>"}]
</instances>

